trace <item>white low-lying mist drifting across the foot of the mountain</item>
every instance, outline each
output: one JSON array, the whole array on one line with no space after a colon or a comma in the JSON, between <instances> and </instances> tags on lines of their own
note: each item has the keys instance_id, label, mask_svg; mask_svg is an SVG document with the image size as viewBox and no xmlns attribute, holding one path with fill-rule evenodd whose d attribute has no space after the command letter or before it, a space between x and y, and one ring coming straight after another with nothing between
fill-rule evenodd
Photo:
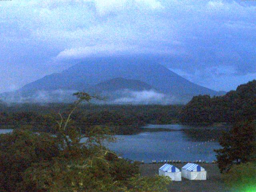
<instances>
[{"instance_id":1,"label":"white low-lying mist drifting across the foot of the mountain","mask_svg":"<svg viewBox=\"0 0 256 192\"><path fill-rule=\"evenodd\" d=\"M50 102L74 102L73 93L77 90L38 90L36 92L8 92L0 94L0 99L6 103L50 103ZM177 96L160 93L156 90L118 90L114 92L90 93L103 100L94 100L96 104L182 104Z\"/></svg>"}]
</instances>

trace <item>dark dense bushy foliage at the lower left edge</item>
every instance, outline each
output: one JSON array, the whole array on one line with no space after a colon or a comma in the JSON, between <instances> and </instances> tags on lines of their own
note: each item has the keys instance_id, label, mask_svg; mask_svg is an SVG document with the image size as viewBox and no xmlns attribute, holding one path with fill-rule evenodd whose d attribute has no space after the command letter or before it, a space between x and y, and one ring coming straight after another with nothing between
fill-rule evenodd
<instances>
[{"instance_id":1,"label":"dark dense bushy foliage at the lower left edge","mask_svg":"<svg viewBox=\"0 0 256 192\"><path fill-rule=\"evenodd\" d=\"M16 191L16 184L22 182L27 168L34 163L51 162L59 152L56 138L48 134L23 130L0 134L0 188Z\"/></svg>"}]
</instances>

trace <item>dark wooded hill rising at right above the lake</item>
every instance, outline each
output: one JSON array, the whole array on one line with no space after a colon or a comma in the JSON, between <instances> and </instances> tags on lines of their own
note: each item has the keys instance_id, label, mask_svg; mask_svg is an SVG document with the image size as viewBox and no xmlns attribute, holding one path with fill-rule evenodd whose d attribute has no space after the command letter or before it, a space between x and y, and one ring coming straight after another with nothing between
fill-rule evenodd
<instances>
[{"instance_id":1,"label":"dark wooded hill rising at right above the lake","mask_svg":"<svg viewBox=\"0 0 256 192\"><path fill-rule=\"evenodd\" d=\"M185 124L234 124L256 119L256 80L242 84L224 96L199 95L184 107L180 121Z\"/></svg>"}]
</instances>

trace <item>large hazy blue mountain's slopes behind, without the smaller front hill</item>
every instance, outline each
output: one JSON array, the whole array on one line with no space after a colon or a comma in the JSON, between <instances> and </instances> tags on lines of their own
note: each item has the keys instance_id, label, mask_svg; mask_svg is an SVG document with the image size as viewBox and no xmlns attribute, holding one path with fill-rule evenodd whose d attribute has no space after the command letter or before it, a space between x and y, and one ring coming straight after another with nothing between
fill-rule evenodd
<instances>
[{"instance_id":1,"label":"large hazy blue mountain's slopes behind, without the smaller front hill","mask_svg":"<svg viewBox=\"0 0 256 192\"><path fill-rule=\"evenodd\" d=\"M160 64L130 58L84 60L61 73L27 84L21 91L86 90L92 85L113 78L140 80L162 93L177 96L218 95L218 92L194 84Z\"/></svg>"}]
</instances>

